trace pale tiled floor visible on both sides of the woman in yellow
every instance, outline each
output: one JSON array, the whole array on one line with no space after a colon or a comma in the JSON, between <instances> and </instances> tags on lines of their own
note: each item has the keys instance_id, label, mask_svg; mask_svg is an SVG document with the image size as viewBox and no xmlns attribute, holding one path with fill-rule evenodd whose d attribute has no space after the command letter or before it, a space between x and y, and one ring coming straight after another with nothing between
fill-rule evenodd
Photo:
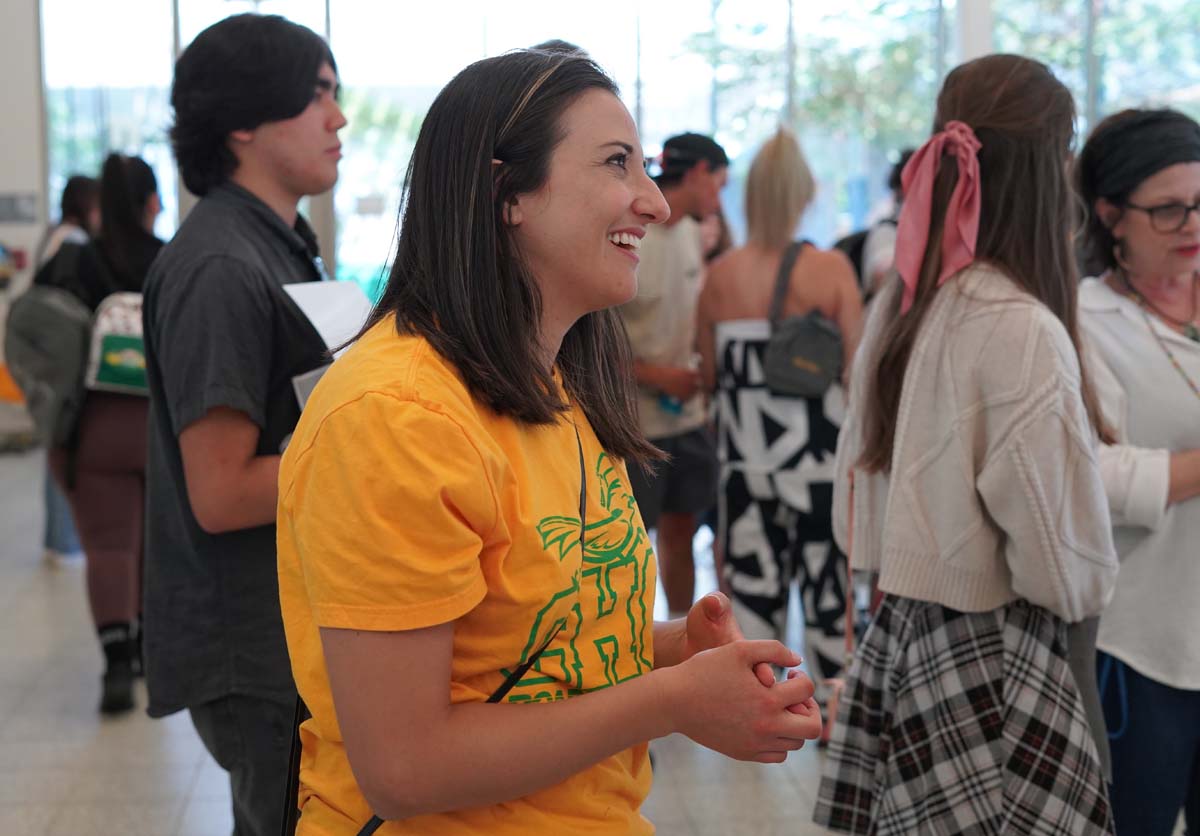
<instances>
[{"instance_id":1,"label":"pale tiled floor visible on both sides of the woman in yellow","mask_svg":"<svg viewBox=\"0 0 1200 836\"><path fill-rule=\"evenodd\" d=\"M229 789L186 715L101 720L101 655L82 567L41 561L41 458L0 456L0 835L222 836ZM712 571L700 585L712 587ZM145 694L139 694L145 705ZM664 836L822 832L820 754L734 763L685 738L654 744L647 816Z\"/></svg>"}]
</instances>

